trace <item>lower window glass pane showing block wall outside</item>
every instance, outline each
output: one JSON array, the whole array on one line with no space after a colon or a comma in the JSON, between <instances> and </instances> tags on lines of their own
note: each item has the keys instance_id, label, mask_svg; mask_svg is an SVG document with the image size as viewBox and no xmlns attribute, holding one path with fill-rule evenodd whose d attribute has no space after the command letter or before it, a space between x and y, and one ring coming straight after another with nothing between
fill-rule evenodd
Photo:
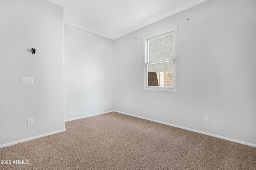
<instances>
[{"instance_id":1,"label":"lower window glass pane showing block wall outside","mask_svg":"<svg viewBox=\"0 0 256 170\"><path fill-rule=\"evenodd\" d=\"M173 63L148 64L148 86L173 86Z\"/></svg>"}]
</instances>

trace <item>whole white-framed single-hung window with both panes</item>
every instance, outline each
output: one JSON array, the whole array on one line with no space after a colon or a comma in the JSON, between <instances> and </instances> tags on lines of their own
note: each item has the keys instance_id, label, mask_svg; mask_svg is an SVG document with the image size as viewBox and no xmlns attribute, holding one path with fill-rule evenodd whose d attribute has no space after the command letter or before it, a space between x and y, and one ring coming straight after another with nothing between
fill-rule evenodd
<instances>
[{"instance_id":1,"label":"whole white-framed single-hung window with both panes","mask_svg":"<svg viewBox=\"0 0 256 170\"><path fill-rule=\"evenodd\" d=\"M177 91L177 26L143 37L143 90Z\"/></svg>"}]
</instances>

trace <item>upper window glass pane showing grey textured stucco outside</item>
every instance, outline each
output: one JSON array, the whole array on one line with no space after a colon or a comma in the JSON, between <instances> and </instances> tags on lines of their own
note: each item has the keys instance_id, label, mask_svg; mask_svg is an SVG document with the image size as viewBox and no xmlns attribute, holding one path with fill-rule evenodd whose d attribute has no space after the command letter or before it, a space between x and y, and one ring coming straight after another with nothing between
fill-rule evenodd
<instances>
[{"instance_id":1,"label":"upper window glass pane showing grey textured stucco outside","mask_svg":"<svg viewBox=\"0 0 256 170\"><path fill-rule=\"evenodd\" d=\"M148 61L173 59L174 34L168 34L148 41Z\"/></svg>"}]
</instances>

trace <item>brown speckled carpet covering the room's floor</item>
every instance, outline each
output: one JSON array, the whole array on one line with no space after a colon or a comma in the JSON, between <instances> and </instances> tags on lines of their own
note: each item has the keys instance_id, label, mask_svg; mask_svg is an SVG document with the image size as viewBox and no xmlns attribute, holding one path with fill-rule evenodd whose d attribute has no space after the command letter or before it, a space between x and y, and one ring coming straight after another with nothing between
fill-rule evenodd
<instances>
[{"instance_id":1,"label":"brown speckled carpet covering the room's floor","mask_svg":"<svg viewBox=\"0 0 256 170\"><path fill-rule=\"evenodd\" d=\"M65 132L0 148L0 160L11 160L0 169L256 170L255 147L121 113L65 126Z\"/></svg>"}]
</instances>

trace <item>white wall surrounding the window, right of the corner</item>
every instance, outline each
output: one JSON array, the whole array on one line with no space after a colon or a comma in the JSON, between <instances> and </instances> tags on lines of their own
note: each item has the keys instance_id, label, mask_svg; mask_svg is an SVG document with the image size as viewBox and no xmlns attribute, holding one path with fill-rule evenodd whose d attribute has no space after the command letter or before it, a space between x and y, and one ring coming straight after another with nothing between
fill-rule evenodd
<instances>
[{"instance_id":1,"label":"white wall surrounding the window, right of the corner","mask_svg":"<svg viewBox=\"0 0 256 170\"><path fill-rule=\"evenodd\" d=\"M114 109L256 145L255 9L208 0L114 40ZM142 91L142 37L173 25L177 92Z\"/></svg>"}]
</instances>

